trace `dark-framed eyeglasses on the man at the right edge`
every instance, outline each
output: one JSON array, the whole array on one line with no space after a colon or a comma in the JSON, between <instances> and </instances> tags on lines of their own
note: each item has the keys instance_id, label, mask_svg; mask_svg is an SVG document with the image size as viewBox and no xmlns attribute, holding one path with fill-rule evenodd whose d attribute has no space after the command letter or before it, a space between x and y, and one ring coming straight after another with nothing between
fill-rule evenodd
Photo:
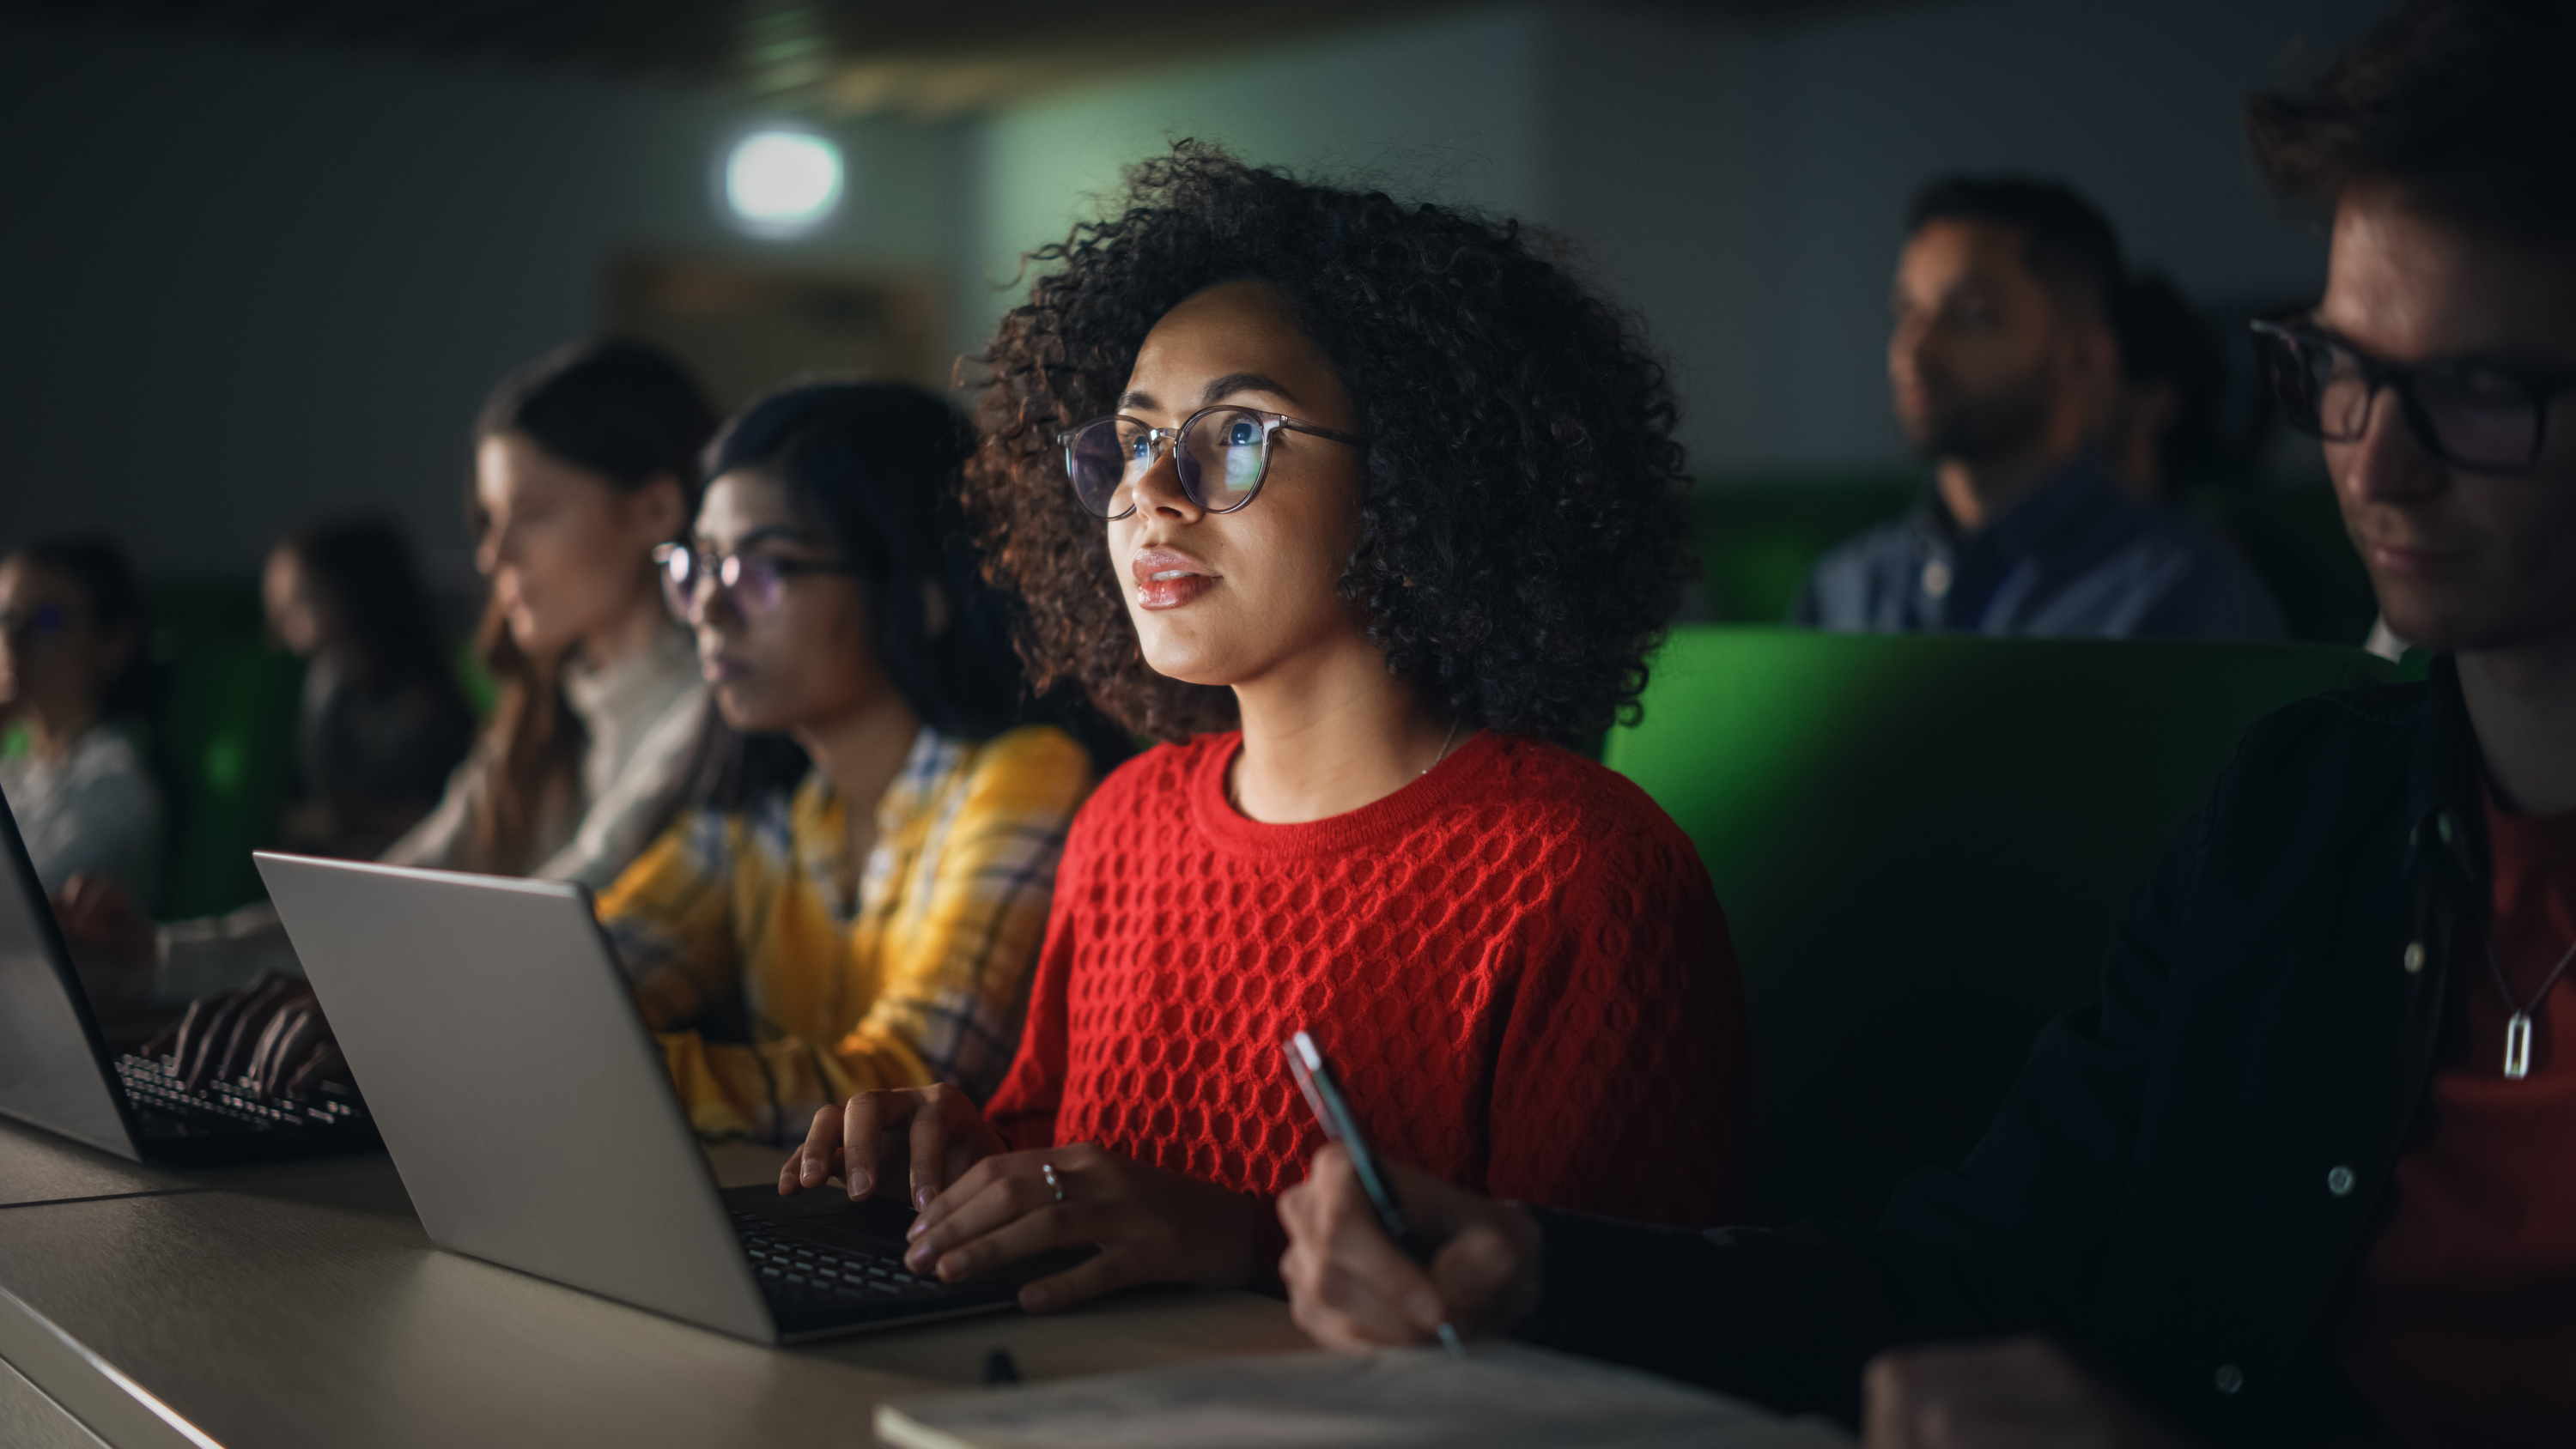
<instances>
[{"instance_id":1,"label":"dark-framed eyeglasses on the man at the right edge","mask_svg":"<svg viewBox=\"0 0 2576 1449\"><path fill-rule=\"evenodd\" d=\"M2540 450L2543 399L2519 378L2478 365L2427 365L2375 376L2360 355L2324 337L2275 340L2272 376L2293 427L2352 443L2370 427L2380 391L2398 391L2424 443L2470 468L2524 468Z\"/></svg>"}]
</instances>

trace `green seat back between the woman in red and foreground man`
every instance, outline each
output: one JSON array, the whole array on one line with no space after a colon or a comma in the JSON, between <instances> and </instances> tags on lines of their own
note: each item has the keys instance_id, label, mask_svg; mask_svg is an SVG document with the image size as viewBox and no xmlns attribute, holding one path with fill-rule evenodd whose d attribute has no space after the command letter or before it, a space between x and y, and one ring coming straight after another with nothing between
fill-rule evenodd
<instances>
[{"instance_id":1,"label":"green seat back between the woman in red and foreground man","mask_svg":"<svg viewBox=\"0 0 2576 1449\"><path fill-rule=\"evenodd\" d=\"M2249 723L2326 646L1682 628L1605 762L1690 831L1754 1050L1754 1215L1870 1223L1976 1145Z\"/></svg>"}]
</instances>

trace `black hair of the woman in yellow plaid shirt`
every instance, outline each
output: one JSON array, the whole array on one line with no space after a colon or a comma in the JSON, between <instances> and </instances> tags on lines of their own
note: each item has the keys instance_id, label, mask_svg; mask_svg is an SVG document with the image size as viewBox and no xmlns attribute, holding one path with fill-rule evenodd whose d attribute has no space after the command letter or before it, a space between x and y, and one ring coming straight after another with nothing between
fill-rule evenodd
<instances>
[{"instance_id":1,"label":"black hair of the woman in yellow plaid shirt","mask_svg":"<svg viewBox=\"0 0 2576 1449\"><path fill-rule=\"evenodd\" d=\"M989 739L1028 713L1010 649L1010 605L981 579L958 510L974 430L945 401L902 383L804 381L737 414L706 450L706 479L737 468L786 484L858 577L876 654L922 723ZM933 618L930 592L943 600ZM793 785L806 759L783 736L737 744L708 780L711 803Z\"/></svg>"}]
</instances>

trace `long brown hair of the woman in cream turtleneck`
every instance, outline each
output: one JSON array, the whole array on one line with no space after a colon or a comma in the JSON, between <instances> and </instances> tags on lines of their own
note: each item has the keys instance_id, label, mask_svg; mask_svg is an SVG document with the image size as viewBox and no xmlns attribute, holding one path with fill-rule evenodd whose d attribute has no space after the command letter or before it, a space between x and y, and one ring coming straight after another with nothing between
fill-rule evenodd
<instances>
[{"instance_id":1,"label":"long brown hair of the woman in cream turtleneck","mask_svg":"<svg viewBox=\"0 0 2576 1449\"><path fill-rule=\"evenodd\" d=\"M716 412L680 363L639 342L572 342L492 389L474 422L474 443L518 435L621 492L670 479L696 512L698 448L714 430ZM466 525L482 538L471 481ZM636 566L649 569L649 561ZM546 800L572 790L582 723L564 700L564 661L523 651L497 602L484 610L477 649L500 679L487 726L500 759L487 808L474 821L474 854L487 870L515 872L533 865L528 847Z\"/></svg>"}]
</instances>

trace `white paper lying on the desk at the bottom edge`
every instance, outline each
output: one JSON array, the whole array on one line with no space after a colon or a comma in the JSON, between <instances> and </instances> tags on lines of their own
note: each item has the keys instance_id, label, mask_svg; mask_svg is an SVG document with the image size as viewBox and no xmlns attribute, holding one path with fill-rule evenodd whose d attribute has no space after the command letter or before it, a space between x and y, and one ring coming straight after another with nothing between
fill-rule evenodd
<instances>
[{"instance_id":1,"label":"white paper lying on the desk at the bottom edge","mask_svg":"<svg viewBox=\"0 0 2576 1449\"><path fill-rule=\"evenodd\" d=\"M1669 1380L1517 1343L1265 1354L878 1405L896 1449L1844 1449Z\"/></svg>"}]
</instances>

